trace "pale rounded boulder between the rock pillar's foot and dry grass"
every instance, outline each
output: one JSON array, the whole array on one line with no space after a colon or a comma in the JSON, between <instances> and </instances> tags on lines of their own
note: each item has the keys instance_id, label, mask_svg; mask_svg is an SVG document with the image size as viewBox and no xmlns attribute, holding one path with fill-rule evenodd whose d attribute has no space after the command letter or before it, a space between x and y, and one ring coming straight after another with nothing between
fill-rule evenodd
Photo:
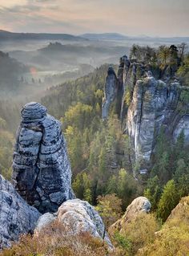
<instances>
[{"instance_id":1,"label":"pale rounded boulder between the rock pillar's foot and dry grass","mask_svg":"<svg viewBox=\"0 0 189 256\"><path fill-rule=\"evenodd\" d=\"M54 220L60 221L68 235L90 232L95 238L104 239L112 248L111 241L105 232L105 226L99 213L87 202L80 199L64 202L57 213L45 213L39 219L35 232L41 231Z\"/></svg>"}]
</instances>

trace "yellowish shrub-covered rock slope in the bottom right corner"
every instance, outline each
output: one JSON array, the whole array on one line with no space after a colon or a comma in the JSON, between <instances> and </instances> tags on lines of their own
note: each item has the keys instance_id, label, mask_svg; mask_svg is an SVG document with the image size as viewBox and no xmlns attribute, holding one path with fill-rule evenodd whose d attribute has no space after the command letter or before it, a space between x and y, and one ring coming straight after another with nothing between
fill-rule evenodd
<instances>
[{"instance_id":1,"label":"yellowish shrub-covered rock slope in the bottom right corner","mask_svg":"<svg viewBox=\"0 0 189 256\"><path fill-rule=\"evenodd\" d=\"M189 197L183 197L171 211L155 240L139 249L136 255L187 255L189 251ZM168 245L168 246L167 246Z\"/></svg>"}]
</instances>

